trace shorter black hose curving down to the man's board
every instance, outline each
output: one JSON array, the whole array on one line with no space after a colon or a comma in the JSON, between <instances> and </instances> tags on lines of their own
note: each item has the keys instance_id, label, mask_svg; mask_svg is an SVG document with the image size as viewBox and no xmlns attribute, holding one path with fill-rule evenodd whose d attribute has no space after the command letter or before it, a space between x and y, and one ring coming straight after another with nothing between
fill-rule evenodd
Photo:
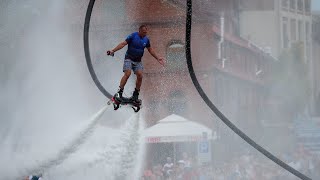
<instances>
[{"instance_id":1,"label":"shorter black hose curving down to the man's board","mask_svg":"<svg viewBox=\"0 0 320 180\"><path fill-rule=\"evenodd\" d=\"M85 22L84 22L84 29L83 29L84 54L86 56L87 66L88 66L90 75L91 75L94 83L96 84L98 89L102 92L102 94L104 94L107 98L111 99L112 95L104 89L104 87L101 85L100 81L98 80L98 77L93 69L92 61L91 61L91 57L90 57L89 28L90 28L90 19L91 19L91 14L92 14L94 2L95 2L95 0L90 0L88 8L87 8Z\"/></svg>"}]
</instances>

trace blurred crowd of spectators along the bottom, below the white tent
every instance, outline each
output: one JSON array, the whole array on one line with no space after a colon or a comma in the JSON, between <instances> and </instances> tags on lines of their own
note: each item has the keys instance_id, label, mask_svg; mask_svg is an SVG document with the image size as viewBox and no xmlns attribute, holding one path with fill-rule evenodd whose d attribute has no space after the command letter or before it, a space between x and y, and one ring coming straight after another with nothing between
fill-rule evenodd
<instances>
[{"instance_id":1,"label":"blurred crowd of spectators along the bottom, below the white tent","mask_svg":"<svg viewBox=\"0 0 320 180\"><path fill-rule=\"evenodd\" d=\"M281 157L291 167L311 179L320 179L320 155L295 152ZM199 165L194 158L176 163L167 157L164 164L145 169L141 180L294 180L299 179L263 156L245 154L220 164Z\"/></svg>"}]
</instances>

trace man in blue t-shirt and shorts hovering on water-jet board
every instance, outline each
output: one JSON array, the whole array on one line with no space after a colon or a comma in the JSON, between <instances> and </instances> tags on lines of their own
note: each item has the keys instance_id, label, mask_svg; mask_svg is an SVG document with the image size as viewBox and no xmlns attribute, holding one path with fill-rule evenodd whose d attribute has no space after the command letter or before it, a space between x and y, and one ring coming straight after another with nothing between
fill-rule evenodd
<instances>
[{"instance_id":1,"label":"man in blue t-shirt and shorts hovering on water-jet board","mask_svg":"<svg viewBox=\"0 0 320 180\"><path fill-rule=\"evenodd\" d=\"M129 79L131 75L131 70L136 74L137 80L136 80L136 88L133 92L133 95L131 97L132 101L137 101L139 98L139 91L142 84L142 74L143 74L143 65L141 62L144 48L147 48L149 53L161 64L164 66L165 60L162 57L159 57L153 48L150 45L150 40L147 37L148 28L146 25L141 25L139 27L139 32L134 32L130 34L125 41L118 44L115 48L112 50L107 51L107 55L113 56L114 53L120 49L122 49L124 46L128 45L128 50L125 55L125 60L123 64L123 76L120 81L120 86L118 90L118 94L120 98L122 98L122 93L124 86L127 83L127 80Z\"/></svg>"}]
</instances>

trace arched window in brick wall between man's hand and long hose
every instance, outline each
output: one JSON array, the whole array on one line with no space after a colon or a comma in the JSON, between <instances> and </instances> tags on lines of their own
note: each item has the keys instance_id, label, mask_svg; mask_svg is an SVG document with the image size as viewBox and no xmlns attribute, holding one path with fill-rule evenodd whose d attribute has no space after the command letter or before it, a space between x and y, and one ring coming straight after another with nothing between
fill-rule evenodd
<instances>
[{"instance_id":1,"label":"arched window in brick wall between man's hand and long hose","mask_svg":"<svg viewBox=\"0 0 320 180\"><path fill-rule=\"evenodd\" d=\"M184 44L181 41L172 41L167 48L167 69L170 71L186 70Z\"/></svg>"}]
</instances>

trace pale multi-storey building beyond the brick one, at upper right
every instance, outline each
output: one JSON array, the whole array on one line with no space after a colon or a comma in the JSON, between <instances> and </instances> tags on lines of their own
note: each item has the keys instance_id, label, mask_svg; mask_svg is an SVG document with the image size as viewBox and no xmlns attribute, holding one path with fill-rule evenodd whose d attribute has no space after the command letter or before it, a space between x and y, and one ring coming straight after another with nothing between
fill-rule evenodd
<instances>
[{"instance_id":1,"label":"pale multi-storey building beyond the brick one, at upper right","mask_svg":"<svg viewBox=\"0 0 320 180\"><path fill-rule=\"evenodd\" d=\"M312 59L311 0L241 0L240 21L241 36L274 57L302 42L305 59Z\"/></svg>"}]
</instances>

